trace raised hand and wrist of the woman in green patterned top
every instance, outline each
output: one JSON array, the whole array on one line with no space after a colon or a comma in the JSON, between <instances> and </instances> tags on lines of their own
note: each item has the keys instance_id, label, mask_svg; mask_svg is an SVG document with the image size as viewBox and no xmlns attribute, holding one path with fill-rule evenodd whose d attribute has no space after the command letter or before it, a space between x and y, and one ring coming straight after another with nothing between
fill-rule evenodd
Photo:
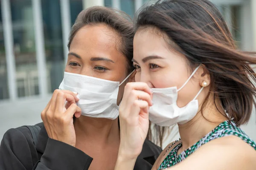
<instances>
[{"instance_id":1,"label":"raised hand and wrist of the woman in green patterned top","mask_svg":"<svg viewBox=\"0 0 256 170\"><path fill-rule=\"evenodd\" d=\"M148 134L148 109L152 106L152 92L143 82L129 82L119 108L119 159L137 159ZM120 158L122 157L122 158Z\"/></svg>"}]
</instances>

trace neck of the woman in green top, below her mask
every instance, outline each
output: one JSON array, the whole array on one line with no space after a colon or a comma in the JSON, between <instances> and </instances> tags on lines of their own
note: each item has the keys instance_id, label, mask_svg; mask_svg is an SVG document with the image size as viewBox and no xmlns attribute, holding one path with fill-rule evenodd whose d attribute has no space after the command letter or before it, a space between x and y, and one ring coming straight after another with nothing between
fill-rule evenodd
<instances>
[{"instance_id":1,"label":"neck of the woman in green top, below her mask","mask_svg":"<svg viewBox=\"0 0 256 170\"><path fill-rule=\"evenodd\" d=\"M224 116L225 112L220 113L215 105L206 107L203 112L197 115L189 122L179 126L180 138L182 140L182 150L186 150L201 138L207 135L221 122L227 120Z\"/></svg>"}]
</instances>

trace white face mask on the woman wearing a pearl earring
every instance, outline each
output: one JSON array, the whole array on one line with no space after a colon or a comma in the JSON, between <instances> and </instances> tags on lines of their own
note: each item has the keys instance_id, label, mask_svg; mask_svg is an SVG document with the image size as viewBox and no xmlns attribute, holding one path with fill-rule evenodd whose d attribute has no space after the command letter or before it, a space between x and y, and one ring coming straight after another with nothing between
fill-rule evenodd
<instances>
[{"instance_id":1,"label":"white face mask on the woman wearing a pearl earring","mask_svg":"<svg viewBox=\"0 0 256 170\"><path fill-rule=\"evenodd\" d=\"M200 65L198 66L198 68ZM198 100L196 98L203 90L203 87L195 96L195 98L189 102L183 108L177 106L178 91L180 91L189 80L193 77L195 71L191 74L189 79L177 90L177 87L171 88L151 88L153 91L153 103L154 105L149 108L149 119L151 122L159 126L172 126L176 123L185 124L193 119L198 112Z\"/></svg>"}]
</instances>

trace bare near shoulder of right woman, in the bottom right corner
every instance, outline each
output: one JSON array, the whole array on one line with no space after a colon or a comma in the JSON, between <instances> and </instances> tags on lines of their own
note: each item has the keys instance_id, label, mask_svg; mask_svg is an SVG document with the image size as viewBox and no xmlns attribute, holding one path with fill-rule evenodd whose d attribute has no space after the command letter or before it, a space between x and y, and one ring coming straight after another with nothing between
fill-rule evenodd
<instances>
[{"instance_id":1,"label":"bare near shoulder of right woman, in the bottom right corner","mask_svg":"<svg viewBox=\"0 0 256 170\"><path fill-rule=\"evenodd\" d=\"M214 139L201 146L175 169L255 170L256 150L237 136Z\"/></svg>"}]
</instances>

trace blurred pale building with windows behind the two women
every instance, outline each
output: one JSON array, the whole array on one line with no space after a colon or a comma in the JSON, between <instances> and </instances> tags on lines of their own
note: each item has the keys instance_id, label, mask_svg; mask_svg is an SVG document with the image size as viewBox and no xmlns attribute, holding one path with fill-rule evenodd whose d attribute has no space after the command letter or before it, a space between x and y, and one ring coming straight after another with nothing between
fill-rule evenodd
<instances>
[{"instance_id":1,"label":"blurred pale building with windows behind the two women","mask_svg":"<svg viewBox=\"0 0 256 170\"><path fill-rule=\"evenodd\" d=\"M68 34L81 10L110 6L134 17L147 2L0 0L0 139L9 128L41 122L41 111L63 78ZM256 0L212 2L224 15L238 47L256 51ZM254 140L255 115L253 111L248 125L242 127ZM166 142L176 138L170 136Z\"/></svg>"}]
</instances>

